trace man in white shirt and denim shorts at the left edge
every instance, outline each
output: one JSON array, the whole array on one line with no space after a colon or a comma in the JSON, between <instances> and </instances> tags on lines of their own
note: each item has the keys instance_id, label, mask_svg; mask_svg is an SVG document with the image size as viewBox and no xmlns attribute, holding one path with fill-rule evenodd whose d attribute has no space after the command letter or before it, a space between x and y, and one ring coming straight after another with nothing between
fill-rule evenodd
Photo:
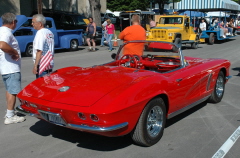
<instances>
[{"instance_id":1,"label":"man in white shirt and denim shorts at the left edge","mask_svg":"<svg viewBox=\"0 0 240 158\"><path fill-rule=\"evenodd\" d=\"M4 124L19 123L25 120L14 111L16 95L21 91L21 52L12 30L16 28L17 20L13 13L2 15L0 27L0 74L6 88L7 113Z\"/></svg>"}]
</instances>

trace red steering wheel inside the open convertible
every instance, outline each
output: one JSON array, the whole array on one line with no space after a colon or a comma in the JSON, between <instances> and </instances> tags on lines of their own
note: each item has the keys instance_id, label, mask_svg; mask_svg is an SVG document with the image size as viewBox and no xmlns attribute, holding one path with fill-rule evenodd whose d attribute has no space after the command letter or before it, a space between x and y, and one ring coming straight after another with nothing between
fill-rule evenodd
<instances>
[{"instance_id":1,"label":"red steering wheel inside the open convertible","mask_svg":"<svg viewBox=\"0 0 240 158\"><path fill-rule=\"evenodd\" d=\"M124 65L125 67L137 68L140 60L139 55L125 54L119 59L118 66Z\"/></svg>"}]
</instances>

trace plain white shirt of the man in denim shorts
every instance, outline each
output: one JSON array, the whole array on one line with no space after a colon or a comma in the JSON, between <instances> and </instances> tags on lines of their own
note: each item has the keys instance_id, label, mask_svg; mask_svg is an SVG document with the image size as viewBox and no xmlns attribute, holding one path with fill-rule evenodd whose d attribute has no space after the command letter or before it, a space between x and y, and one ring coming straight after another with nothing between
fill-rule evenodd
<instances>
[{"instance_id":1,"label":"plain white shirt of the man in denim shorts","mask_svg":"<svg viewBox=\"0 0 240 158\"><path fill-rule=\"evenodd\" d=\"M12 34L12 30L8 27L0 27L0 41L6 42L13 49L17 50L20 59L17 61L12 59L12 56L8 53L3 52L0 49L0 74L11 74L20 72L21 70L21 52L18 46L18 41Z\"/></svg>"}]
</instances>

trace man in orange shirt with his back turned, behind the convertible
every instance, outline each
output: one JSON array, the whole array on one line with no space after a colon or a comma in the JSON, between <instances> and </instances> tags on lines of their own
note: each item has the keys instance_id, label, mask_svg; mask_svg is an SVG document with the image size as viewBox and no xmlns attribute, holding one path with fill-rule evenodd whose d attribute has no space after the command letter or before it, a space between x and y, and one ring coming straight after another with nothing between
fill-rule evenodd
<instances>
[{"instance_id":1,"label":"man in orange shirt with his back turned, behind the convertible","mask_svg":"<svg viewBox=\"0 0 240 158\"><path fill-rule=\"evenodd\" d=\"M139 15L134 14L131 19L132 25L126 27L119 35L119 38L123 42L134 41L134 40L146 40L146 31L140 25ZM135 54L143 55L144 43L129 43L123 48L123 55Z\"/></svg>"}]
</instances>

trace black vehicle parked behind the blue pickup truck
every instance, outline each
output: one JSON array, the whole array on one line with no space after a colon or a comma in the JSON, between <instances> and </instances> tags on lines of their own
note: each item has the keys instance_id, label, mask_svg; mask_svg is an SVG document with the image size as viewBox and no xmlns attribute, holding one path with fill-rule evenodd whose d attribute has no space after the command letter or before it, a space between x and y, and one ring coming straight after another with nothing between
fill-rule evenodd
<instances>
[{"instance_id":1,"label":"black vehicle parked behind the blue pickup truck","mask_svg":"<svg viewBox=\"0 0 240 158\"><path fill-rule=\"evenodd\" d=\"M34 11L32 15L37 14L37 11ZM76 29L83 29L83 36L82 41L83 45L87 45L86 42L86 28L87 18L83 15L72 13L72 12L64 12L64 11L56 11L51 9L44 9L43 15L45 17L51 17L54 19L56 28L57 29L63 29L63 30L76 30ZM96 42L100 43L102 38L102 27L97 26L97 32L96 32Z\"/></svg>"}]
</instances>

